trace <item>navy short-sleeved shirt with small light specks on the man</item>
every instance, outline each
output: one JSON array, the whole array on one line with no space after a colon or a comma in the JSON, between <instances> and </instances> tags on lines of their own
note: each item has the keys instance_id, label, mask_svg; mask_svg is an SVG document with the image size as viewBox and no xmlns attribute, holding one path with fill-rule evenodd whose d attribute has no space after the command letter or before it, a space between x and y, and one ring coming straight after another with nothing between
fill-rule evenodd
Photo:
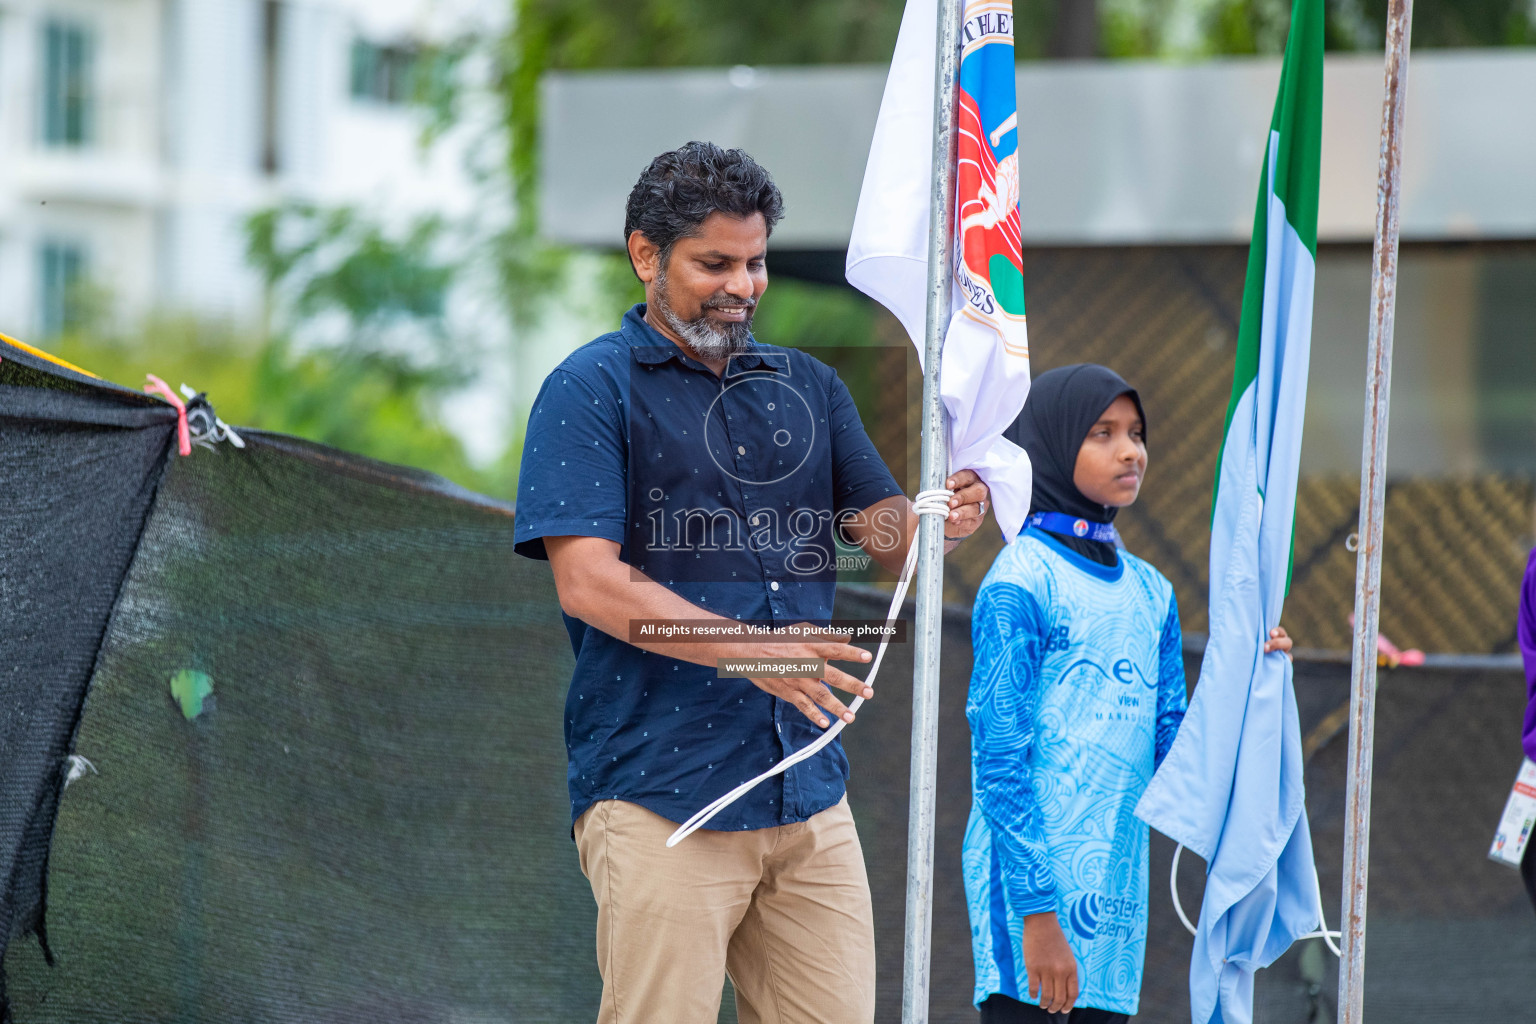
<instances>
[{"instance_id":1,"label":"navy short-sleeved shirt with small light specks on the man","mask_svg":"<svg viewBox=\"0 0 1536 1024\"><path fill-rule=\"evenodd\" d=\"M707 613L826 622L842 516L900 494L848 388L794 348L753 344L722 376L644 319L571 353L544 381L522 448L516 550L544 537L619 543L619 557ZM819 734L794 706L716 668L650 654L565 617L571 821L627 800L673 821ZM742 797L713 829L803 821L837 803L833 742Z\"/></svg>"}]
</instances>

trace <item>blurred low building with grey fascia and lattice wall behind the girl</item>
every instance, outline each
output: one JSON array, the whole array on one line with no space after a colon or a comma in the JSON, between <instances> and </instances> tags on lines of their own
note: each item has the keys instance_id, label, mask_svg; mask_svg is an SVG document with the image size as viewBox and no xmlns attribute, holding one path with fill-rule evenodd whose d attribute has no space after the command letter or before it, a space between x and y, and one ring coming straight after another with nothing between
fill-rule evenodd
<instances>
[{"instance_id":1,"label":"blurred low building with grey fascia and lattice wall behind the girl","mask_svg":"<svg viewBox=\"0 0 1536 1024\"><path fill-rule=\"evenodd\" d=\"M1349 646L1382 74L1330 54L1312 376L1287 625ZM840 282L885 68L568 72L544 94L551 236L617 246L624 197L690 138L742 146L785 192L770 269ZM1204 629L1210 487L1232 382L1278 58L1018 69L1020 209L1035 372L1106 362L1147 405L1152 470L1120 517ZM1409 71L1382 629L1511 651L1536 497L1536 51L1430 51ZM773 301L771 296L768 301ZM909 350L894 318L894 353ZM791 341L791 339L785 339ZM915 362L915 361L912 361ZM876 444L915 468L915 372L871 388ZM915 490L915 476L909 479ZM969 600L997 539L948 560Z\"/></svg>"}]
</instances>

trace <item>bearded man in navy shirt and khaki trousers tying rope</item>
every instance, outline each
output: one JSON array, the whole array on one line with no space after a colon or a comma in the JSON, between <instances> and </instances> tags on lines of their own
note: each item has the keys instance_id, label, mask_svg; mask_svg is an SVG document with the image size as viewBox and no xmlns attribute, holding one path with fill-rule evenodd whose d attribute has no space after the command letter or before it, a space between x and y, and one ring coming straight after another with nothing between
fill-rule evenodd
<instances>
[{"instance_id":1,"label":"bearded man in navy shirt and khaki trousers tying rope","mask_svg":"<svg viewBox=\"0 0 1536 1024\"><path fill-rule=\"evenodd\" d=\"M868 662L825 625L836 537L899 571L917 514L837 375L759 344L773 178L688 143L630 193L645 302L567 358L528 418L516 550L548 559L576 654L565 699L571 834L598 901L599 1022L713 1022L728 973L750 1022L874 1019L874 927L834 742L668 849L676 823L852 722L860 679L727 677L720 660ZM948 547L986 511L969 470ZM676 628L667 628L676 626ZM903 785L897 781L895 785Z\"/></svg>"}]
</instances>

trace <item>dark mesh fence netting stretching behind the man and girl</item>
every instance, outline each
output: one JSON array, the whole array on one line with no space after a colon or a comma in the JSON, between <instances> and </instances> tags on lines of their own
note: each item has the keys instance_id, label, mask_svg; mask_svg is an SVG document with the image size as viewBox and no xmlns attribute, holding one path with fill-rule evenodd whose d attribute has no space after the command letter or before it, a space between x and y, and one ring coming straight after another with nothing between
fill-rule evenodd
<instances>
[{"instance_id":1,"label":"dark mesh fence netting stretching behind the man and girl","mask_svg":"<svg viewBox=\"0 0 1536 1024\"><path fill-rule=\"evenodd\" d=\"M164 407L71 381L0 359L0 940L18 1024L593 1019L596 915L561 740L570 646L548 567L511 551L510 511L270 434L175 457ZM868 590L839 600L839 616L885 614ZM932 1019L972 1021L965 609L943 643ZM882 674L845 737L879 1016L895 1021L911 648ZM1298 689L1336 923L1344 737L1322 740L1347 668L1299 666ZM1508 671L1382 677L1373 1019L1530 1019L1536 917L1484 857L1522 697ZM60 800L69 754L94 771L77 761ZM1154 1022L1189 1006L1169 855L1155 838ZM45 877L54 966L25 936ZM1187 863L1190 912L1198 878ZM1261 975L1258 1019L1332 1019L1315 1016L1332 970L1293 950Z\"/></svg>"}]
</instances>

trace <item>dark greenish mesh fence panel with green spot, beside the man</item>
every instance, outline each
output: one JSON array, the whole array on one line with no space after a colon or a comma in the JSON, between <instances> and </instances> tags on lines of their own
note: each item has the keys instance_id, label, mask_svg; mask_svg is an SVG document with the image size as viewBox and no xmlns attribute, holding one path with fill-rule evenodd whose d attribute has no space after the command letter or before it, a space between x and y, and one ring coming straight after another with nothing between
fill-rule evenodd
<instances>
[{"instance_id":1,"label":"dark greenish mesh fence panel with green spot, beside the man","mask_svg":"<svg viewBox=\"0 0 1536 1024\"><path fill-rule=\"evenodd\" d=\"M587 1015L570 646L510 524L261 436L174 464L75 743L58 964L8 958L18 1021ZM178 679L210 686L190 720Z\"/></svg>"}]
</instances>

